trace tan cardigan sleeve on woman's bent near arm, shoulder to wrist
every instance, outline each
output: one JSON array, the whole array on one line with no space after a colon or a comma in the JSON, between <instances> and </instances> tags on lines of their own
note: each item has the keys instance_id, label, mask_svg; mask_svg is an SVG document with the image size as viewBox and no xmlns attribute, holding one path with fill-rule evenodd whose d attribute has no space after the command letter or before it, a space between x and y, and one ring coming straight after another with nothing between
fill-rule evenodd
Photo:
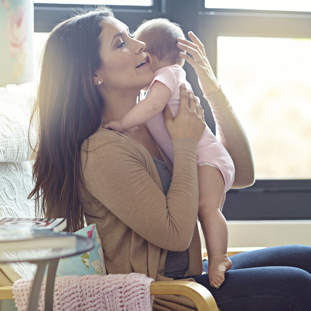
<instances>
[{"instance_id":1,"label":"tan cardigan sleeve on woman's bent near arm, shoulder to wrist","mask_svg":"<svg viewBox=\"0 0 311 311\"><path fill-rule=\"evenodd\" d=\"M173 139L174 168L167 196L148 172L144 153L129 141L93 145L90 139L82 166L87 190L147 241L167 250L186 250L198 213L197 141Z\"/></svg>"}]
</instances>

